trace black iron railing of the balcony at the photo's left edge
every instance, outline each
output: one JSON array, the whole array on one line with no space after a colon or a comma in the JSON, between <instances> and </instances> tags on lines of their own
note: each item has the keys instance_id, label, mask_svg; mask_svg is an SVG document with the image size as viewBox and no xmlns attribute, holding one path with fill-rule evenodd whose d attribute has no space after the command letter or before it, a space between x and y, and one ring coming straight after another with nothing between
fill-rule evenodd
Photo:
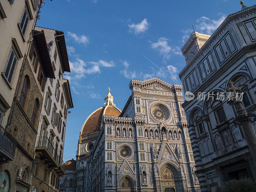
<instances>
[{"instance_id":1,"label":"black iron railing of the balcony at the photo's left edge","mask_svg":"<svg viewBox=\"0 0 256 192\"><path fill-rule=\"evenodd\" d=\"M17 141L0 125L0 148L14 158Z\"/></svg>"}]
</instances>

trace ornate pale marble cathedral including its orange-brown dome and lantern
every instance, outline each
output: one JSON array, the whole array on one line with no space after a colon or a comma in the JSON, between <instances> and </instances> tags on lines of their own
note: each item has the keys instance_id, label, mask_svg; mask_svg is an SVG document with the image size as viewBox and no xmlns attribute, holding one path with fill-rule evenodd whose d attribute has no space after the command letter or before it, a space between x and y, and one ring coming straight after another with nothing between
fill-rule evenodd
<instances>
[{"instance_id":1,"label":"ornate pale marble cathedral including its orange-brown dome and lantern","mask_svg":"<svg viewBox=\"0 0 256 192\"><path fill-rule=\"evenodd\" d=\"M76 172L65 167L71 161L64 164L60 191L200 191L182 85L155 77L132 79L129 88L122 111L108 89L103 106L85 120Z\"/></svg>"}]
</instances>

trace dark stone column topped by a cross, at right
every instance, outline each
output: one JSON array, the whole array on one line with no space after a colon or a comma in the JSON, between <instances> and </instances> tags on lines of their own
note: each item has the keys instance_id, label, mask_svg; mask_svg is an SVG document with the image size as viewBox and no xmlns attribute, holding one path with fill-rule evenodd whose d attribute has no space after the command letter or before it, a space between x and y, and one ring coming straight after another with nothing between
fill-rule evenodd
<instances>
[{"instance_id":1,"label":"dark stone column topped by a cross, at right","mask_svg":"<svg viewBox=\"0 0 256 192\"><path fill-rule=\"evenodd\" d=\"M247 141L249 150L251 152L251 156L254 162L254 166L256 167L256 134L252 126L252 122L255 120L255 114L248 114L244 106L242 105L242 101L237 97L236 91L241 91L240 87L235 88L234 82L229 81L230 88L227 87L227 91L232 91L235 93L234 104L236 105L236 114L237 117L234 119L234 124L242 125L244 131L244 137ZM253 121L252 118L253 117Z\"/></svg>"}]
</instances>

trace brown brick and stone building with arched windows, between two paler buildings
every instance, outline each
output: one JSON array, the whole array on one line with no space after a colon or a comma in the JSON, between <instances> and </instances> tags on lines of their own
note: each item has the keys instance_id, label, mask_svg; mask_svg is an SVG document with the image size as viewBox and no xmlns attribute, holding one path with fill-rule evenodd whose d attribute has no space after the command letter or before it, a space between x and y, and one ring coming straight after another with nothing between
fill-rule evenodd
<instances>
[{"instance_id":1,"label":"brown brick and stone building with arched windows, between two paler buildings","mask_svg":"<svg viewBox=\"0 0 256 192\"><path fill-rule=\"evenodd\" d=\"M47 77L55 78L43 31L35 31L28 60L26 63L24 60L19 72L7 122L10 124L6 130L8 134L4 133L1 138L2 146L9 149L13 147L9 144L11 136L12 140L16 140L17 146L16 149L12 148L13 160L0 166L1 179L5 176L1 186L6 191L27 192L33 188L31 174L35 168L35 143L45 83ZM9 122L11 118L12 121Z\"/></svg>"}]
</instances>

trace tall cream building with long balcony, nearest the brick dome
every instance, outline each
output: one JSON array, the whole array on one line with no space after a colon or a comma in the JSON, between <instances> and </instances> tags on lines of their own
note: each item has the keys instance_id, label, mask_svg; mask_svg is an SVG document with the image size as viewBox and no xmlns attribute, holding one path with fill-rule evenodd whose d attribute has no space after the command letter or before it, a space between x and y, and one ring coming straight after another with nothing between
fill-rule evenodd
<instances>
[{"instance_id":1,"label":"tall cream building with long balcony, nearest the brick dome","mask_svg":"<svg viewBox=\"0 0 256 192\"><path fill-rule=\"evenodd\" d=\"M62 31L36 27L43 31L55 78L47 78L43 106L35 146L36 165L32 185L40 191L58 191L60 176L63 176L62 156L68 109L73 102L64 72L70 72L68 53Z\"/></svg>"}]
</instances>

